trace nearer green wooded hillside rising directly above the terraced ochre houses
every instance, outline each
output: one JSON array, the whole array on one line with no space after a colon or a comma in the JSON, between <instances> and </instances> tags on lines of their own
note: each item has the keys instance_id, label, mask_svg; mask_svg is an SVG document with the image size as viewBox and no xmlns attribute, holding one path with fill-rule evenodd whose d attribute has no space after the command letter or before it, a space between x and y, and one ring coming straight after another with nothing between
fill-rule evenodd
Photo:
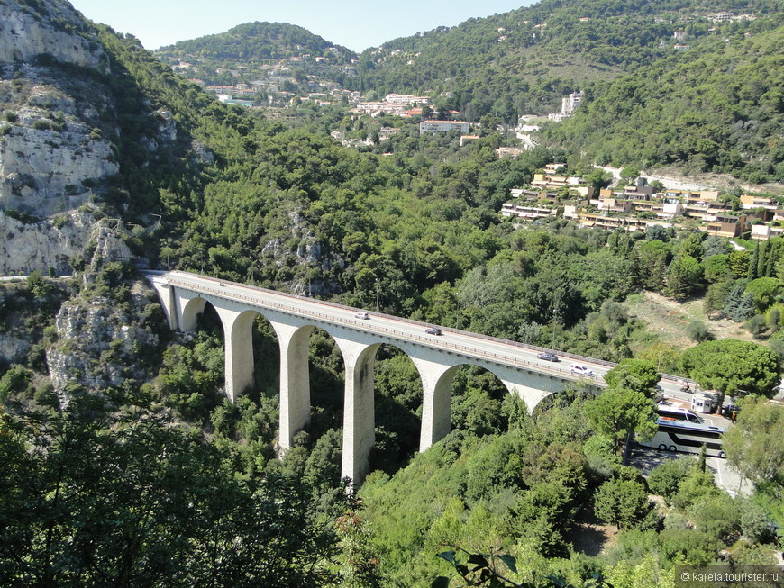
<instances>
[{"instance_id":1,"label":"nearer green wooded hillside rising directly above the terraced ochre houses","mask_svg":"<svg viewBox=\"0 0 784 588\"><path fill-rule=\"evenodd\" d=\"M547 137L599 164L784 182L784 14L591 88Z\"/></svg>"}]
</instances>

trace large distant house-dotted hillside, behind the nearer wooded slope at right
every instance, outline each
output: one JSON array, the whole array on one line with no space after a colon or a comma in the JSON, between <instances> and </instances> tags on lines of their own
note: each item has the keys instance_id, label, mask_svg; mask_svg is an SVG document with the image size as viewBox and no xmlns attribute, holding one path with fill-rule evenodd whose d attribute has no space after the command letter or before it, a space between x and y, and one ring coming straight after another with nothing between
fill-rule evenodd
<instances>
[{"instance_id":1,"label":"large distant house-dotted hillside, behind the nearer wooded slope at right","mask_svg":"<svg viewBox=\"0 0 784 588\"><path fill-rule=\"evenodd\" d=\"M422 36L397 39L360 57L364 89L450 92L460 111L473 104L476 120L496 113L547 112L560 94L669 55L673 33L690 41L707 35L705 17L719 11L769 14L775 3L606 2L544 0L516 11Z\"/></svg>"}]
</instances>

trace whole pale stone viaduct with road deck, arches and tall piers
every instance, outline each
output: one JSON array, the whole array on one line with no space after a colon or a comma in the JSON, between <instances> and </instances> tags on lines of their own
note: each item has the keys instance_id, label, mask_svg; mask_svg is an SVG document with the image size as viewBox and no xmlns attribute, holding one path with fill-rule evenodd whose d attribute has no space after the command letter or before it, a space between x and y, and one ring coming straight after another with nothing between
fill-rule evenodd
<instances>
[{"instance_id":1,"label":"whole pale stone viaduct with road deck, arches and tall piers","mask_svg":"<svg viewBox=\"0 0 784 588\"><path fill-rule=\"evenodd\" d=\"M568 362L540 361L536 353L541 349L513 341L449 329L443 329L442 336L429 335L424 330L431 325L422 322L378 313L370 313L366 320L356 316L359 309L186 272L148 272L147 276L172 330L195 330L196 316L205 303L214 306L223 323L225 393L232 401L253 383L253 321L258 314L269 321L280 345L279 444L284 450L310 420L308 343L316 327L325 330L340 349L345 366L341 471L356 483L369 472L375 430L373 364L384 343L410 357L422 378L420 451L451 430L451 384L461 365L481 366L497 375L511 394L524 399L529 411L545 396L579 379L570 373ZM590 366L601 375L612 365Z\"/></svg>"}]
</instances>

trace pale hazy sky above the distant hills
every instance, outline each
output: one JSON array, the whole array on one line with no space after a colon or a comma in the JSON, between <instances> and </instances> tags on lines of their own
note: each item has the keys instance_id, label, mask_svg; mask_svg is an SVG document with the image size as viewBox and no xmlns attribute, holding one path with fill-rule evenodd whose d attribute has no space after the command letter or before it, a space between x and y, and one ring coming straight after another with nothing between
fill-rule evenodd
<instances>
[{"instance_id":1,"label":"pale hazy sky above the distant hills","mask_svg":"<svg viewBox=\"0 0 784 588\"><path fill-rule=\"evenodd\" d=\"M506 13L531 0L70 0L79 12L116 32L130 32L145 49L267 21L304 27L360 52L384 41L453 26L471 17Z\"/></svg>"}]
</instances>

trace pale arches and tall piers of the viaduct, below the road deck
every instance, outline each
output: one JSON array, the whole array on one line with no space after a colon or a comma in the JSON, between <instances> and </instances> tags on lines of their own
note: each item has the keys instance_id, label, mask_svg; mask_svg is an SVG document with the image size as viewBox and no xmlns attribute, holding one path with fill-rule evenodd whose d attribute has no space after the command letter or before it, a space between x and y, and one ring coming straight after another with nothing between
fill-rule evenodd
<instances>
[{"instance_id":1,"label":"pale arches and tall piers of the viaduct, below the road deck","mask_svg":"<svg viewBox=\"0 0 784 588\"><path fill-rule=\"evenodd\" d=\"M196 328L196 316L212 294L182 292L175 297L181 329ZM280 426L282 449L291 447L297 430L311 418L309 340L313 331L324 330L340 349L345 375L343 391L342 475L360 481L369 472L369 453L375 440L374 365L383 343L399 348L414 363L423 388L423 411L419 449L424 451L451 430L451 386L461 365L480 366L496 375L513 394L524 397L529 410L542 398L558 391L555 380L493 363L465 357L438 346L392 341L341 324L313 321L275 309L250 307L245 303L214 300L223 322L226 348L226 394L233 401L253 384L252 324L259 315L269 320L278 337L280 353Z\"/></svg>"}]
</instances>

